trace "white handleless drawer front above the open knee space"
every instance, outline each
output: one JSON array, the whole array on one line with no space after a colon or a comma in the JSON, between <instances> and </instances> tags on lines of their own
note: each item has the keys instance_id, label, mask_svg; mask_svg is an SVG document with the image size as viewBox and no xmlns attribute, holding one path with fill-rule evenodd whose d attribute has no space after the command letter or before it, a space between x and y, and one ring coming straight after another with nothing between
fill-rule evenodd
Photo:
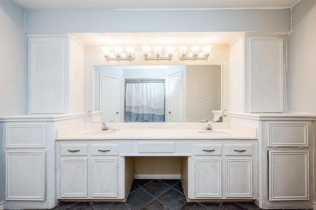
<instances>
[{"instance_id":1,"label":"white handleless drawer front above the open knee space","mask_svg":"<svg viewBox=\"0 0 316 210\"><path fill-rule=\"evenodd\" d=\"M174 153L174 142L138 142L138 153Z\"/></svg>"}]
</instances>

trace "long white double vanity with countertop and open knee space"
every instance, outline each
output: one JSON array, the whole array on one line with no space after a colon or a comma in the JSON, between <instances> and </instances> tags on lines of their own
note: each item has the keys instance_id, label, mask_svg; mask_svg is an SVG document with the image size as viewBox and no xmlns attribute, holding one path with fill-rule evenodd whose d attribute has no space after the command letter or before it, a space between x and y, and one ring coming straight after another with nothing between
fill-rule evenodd
<instances>
[{"instance_id":1,"label":"long white double vanity with countertop and open knee space","mask_svg":"<svg viewBox=\"0 0 316 210\"><path fill-rule=\"evenodd\" d=\"M58 136L58 199L124 200L134 179L133 157L139 156L181 157L179 178L188 199L252 199L257 137L228 125L81 129Z\"/></svg>"}]
</instances>

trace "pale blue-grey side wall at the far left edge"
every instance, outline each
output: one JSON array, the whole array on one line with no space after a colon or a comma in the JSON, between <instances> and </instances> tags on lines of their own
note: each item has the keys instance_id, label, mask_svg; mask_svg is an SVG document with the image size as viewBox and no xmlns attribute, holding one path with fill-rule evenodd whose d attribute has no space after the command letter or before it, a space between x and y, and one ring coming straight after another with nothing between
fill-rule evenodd
<instances>
[{"instance_id":1,"label":"pale blue-grey side wall at the far left edge","mask_svg":"<svg viewBox=\"0 0 316 210\"><path fill-rule=\"evenodd\" d=\"M24 10L11 0L0 0L0 45L0 116L27 114L28 39L24 33ZM5 186L3 145L0 126L0 204Z\"/></svg>"}]
</instances>

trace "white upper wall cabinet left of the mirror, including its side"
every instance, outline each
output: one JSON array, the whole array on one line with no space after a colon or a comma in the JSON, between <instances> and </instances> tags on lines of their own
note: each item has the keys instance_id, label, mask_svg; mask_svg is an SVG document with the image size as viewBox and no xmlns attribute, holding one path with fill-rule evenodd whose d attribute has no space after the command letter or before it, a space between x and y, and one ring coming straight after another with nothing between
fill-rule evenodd
<instances>
[{"instance_id":1,"label":"white upper wall cabinet left of the mirror, including its side","mask_svg":"<svg viewBox=\"0 0 316 210\"><path fill-rule=\"evenodd\" d=\"M29 114L83 112L83 45L67 34L28 34ZM76 78L76 79L75 79Z\"/></svg>"}]
</instances>

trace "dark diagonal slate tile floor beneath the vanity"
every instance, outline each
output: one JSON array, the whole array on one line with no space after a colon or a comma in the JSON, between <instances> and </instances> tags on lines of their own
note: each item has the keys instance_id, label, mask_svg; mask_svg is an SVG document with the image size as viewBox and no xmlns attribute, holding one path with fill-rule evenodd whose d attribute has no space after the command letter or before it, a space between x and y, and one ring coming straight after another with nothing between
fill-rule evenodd
<instances>
[{"instance_id":1,"label":"dark diagonal slate tile floor beneath the vanity","mask_svg":"<svg viewBox=\"0 0 316 210\"><path fill-rule=\"evenodd\" d=\"M253 202L187 202L180 180L134 180L125 203L60 202L53 210L261 210Z\"/></svg>"}]
</instances>

